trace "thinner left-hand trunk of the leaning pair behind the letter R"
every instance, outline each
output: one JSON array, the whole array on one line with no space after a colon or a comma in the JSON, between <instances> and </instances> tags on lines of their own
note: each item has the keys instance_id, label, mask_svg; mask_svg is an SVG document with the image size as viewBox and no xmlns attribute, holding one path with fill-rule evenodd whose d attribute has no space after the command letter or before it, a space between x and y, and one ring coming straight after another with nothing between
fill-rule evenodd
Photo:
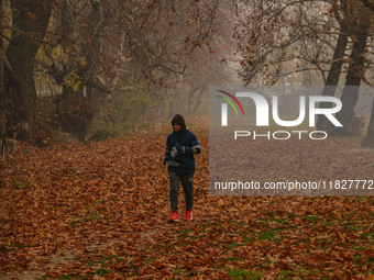
<instances>
[{"instance_id":1,"label":"thinner left-hand trunk of the leaning pair behind the letter R","mask_svg":"<svg viewBox=\"0 0 374 280\"><path fill-rule=\"evenodd\" d=\"M340 25L340 33L337 41L337 46L333 53L332 64L328 74L328 77L326 79L326 83L322 90L322 96L327 97L333 97L336 94L337 86L339 82L341 68L343 66L343 58L346 49L348 44L348 32L349 32L349 25L346 22L342 22ZM321 102L320 108L328 108L330 103ZM326 119L324 116L318 117L317 121L317 127L318 131L331 131L331 122Z\"/></svg>"}]
</instances>

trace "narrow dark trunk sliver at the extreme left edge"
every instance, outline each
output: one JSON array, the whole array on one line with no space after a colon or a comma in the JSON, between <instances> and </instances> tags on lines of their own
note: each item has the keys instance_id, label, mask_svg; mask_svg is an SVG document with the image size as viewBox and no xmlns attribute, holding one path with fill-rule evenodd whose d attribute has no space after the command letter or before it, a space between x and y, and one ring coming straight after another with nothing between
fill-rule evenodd
<instances>
[{"instance_id":1,"label":"narrow dark trunk sliver at the extreme left edge","mask_svg":"<svg viewBox=\"0 0 374 280\"><path fill-rule=\"evenodd\" d=\"M2 0L0 0L0 11L2 13ZM2 16L0 15L0 30L2 30ZM4 85L4 59L3 59L3 41L0 37L0 142L1 159L6 159L6 139L7 139L7 92Z\"/></svg>"}]
</instances>

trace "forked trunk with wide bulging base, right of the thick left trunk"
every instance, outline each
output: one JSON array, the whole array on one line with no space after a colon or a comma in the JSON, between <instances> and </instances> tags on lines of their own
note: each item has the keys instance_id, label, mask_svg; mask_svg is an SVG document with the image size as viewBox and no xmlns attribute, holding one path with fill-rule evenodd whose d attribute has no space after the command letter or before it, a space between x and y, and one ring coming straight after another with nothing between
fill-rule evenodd
<instances>
[{"instance_id":1,"label":"forked trunk with wide bulging base, right of the thick left trunk","mask_svg":"<svg viewBox=\"0 0 374 280\"><path fill-rule=\"evenodd\" d=\"M95 2L95 3L94 3ZM99 36L99 27L102 24L102 15L100 11L100 1L92 1L92 8L90 12L90 20L87 22L87 33L85 37L95 42L95 37ZM81 26L75 26L72 24L74 12L69 1L62 2L61 21L64 29L61 30L62 37L69 37L72 33L78 32ZM64 48L70 47L72 42L69 40L63 40L62 46ZM56 97L56 114L61 127L70 135L78 138L80 142L86 141L88 128L91 124L95 114L95 102L91 102L91 88L97 86L89 78L89 74L94 71L95 54L92 52L92 44L86 44L80 46L81 58L85 60L85 66L77 64L76 56L69 56L68 63L65 66L65 72L63 75L74 74L79 79L78 89L73 89L72 85L66 85L63 79L59 79L61 72L53 71L55 80L59 80L63 86L63 94ZM96 87L99 88L99 87ZM84 92L84 89L87 89Z\"/></svg>"}]
</instances>

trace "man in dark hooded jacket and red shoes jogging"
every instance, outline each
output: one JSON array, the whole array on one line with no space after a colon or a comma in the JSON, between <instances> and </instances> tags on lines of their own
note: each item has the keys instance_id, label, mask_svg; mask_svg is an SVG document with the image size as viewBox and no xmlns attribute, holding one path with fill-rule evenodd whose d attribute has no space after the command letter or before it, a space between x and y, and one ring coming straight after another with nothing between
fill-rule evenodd
<instances>
[{"instance_id":1,"label":"man in dark hooded jacket and red shoes jogging","mask_svg":"<svg viewBox=\"0 0 374 280\"><path fill-rule=\"evenodd\" d=\"M169 200L173 216L170 223L179 221L178 192L179 181L185 192L187 221L193 220L194 206L194 155L200 154L201 148L194 133L186 128L185 120L176 114L172 121L173 133L167 136L164 165L168 161Z\"/></svg>"}]
</instances>

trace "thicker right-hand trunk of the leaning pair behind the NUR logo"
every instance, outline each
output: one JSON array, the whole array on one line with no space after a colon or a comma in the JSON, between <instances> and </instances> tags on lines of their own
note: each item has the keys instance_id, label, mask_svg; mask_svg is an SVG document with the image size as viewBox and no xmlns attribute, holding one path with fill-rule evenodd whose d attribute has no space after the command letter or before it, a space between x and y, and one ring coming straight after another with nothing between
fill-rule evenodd
<instances>
[{"instance_id":1,"label":"thicker right-hand trunk of the leaning pair behind the NUR logo","mask_svg":"<svg viewBox=\"0 0 374 280\"><path fill-rule=\"evenodd\" d=\"M363 65L365 46L370 31L370 16L367 13L360 15L359 23L353 31L353 48L350 56L350 64L345 77L345 86L342 92L342 110L338 113L338 120L343 124L343 127L337 127L334 134L338 135L355 135L361 130L359 119L354 114L354 107L359 100L360 83L363 77Z\"/></svg>"}]
</instances>

